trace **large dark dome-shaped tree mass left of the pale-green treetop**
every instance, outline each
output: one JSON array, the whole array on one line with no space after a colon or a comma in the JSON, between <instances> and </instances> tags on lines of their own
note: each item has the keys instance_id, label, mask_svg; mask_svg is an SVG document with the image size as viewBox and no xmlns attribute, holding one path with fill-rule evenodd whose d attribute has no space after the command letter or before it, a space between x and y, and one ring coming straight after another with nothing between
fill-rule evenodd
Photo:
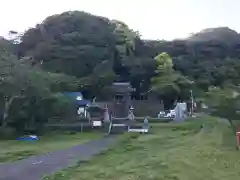
<instances>
[{"instance_id":1,"label":"large dark dome-shaped tree mass left of the pale-green treetop","mask_svg":"<svg viewBox=\"0 0 240 180\"><path fill-rule=\"evenodd\" d=\"M44 70L85 77L102 61L113 61L111 46L116 45L117 38L114 29L106 18L64 12L24 33L20 51L36 61L43 60Z\"/></svg>"}]
</instances>

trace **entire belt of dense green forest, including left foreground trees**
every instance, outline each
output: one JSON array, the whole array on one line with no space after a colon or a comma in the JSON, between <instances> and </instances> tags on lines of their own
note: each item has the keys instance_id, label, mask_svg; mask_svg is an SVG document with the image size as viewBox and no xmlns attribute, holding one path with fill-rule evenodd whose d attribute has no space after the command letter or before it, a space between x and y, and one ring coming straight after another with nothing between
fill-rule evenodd
<instances>
[{"instance_id":1,"label":"entire belt of dense green forest, including left foreground trees","mask_svg":"<svg viewBox=\"0 0 240 180\"><path fill-rule=\"evenodd\" d=\"M227 27L181 40L144 40L124 22L71 11L10 34L0 39L2 127L22 130L68 116L60 92L104 97L113 81L130 81L136 97L153 90L165 104L188 100L190 89L200 97L211 86L240 81L240 34Z\"/></svg>"}]
</instances>

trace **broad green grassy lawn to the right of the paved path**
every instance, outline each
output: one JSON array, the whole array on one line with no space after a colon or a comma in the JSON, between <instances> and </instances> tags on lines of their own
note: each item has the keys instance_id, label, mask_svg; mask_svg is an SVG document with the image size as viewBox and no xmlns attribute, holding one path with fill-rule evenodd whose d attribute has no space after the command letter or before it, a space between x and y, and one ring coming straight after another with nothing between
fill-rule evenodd
<instances>
[{"instance_id":1,"label":"broad green grassy lawn to the right of the paved path","mask_svg":"<svg viewBox=\"0 0 240 180\"><path fill-rule=\"evenodd\" d=\"M152 132L128 134L130 138L116 148L45 179L239 179L240 152L227 122L196 118L183 124L157 124Z\"/></svg>"}]
</instances>

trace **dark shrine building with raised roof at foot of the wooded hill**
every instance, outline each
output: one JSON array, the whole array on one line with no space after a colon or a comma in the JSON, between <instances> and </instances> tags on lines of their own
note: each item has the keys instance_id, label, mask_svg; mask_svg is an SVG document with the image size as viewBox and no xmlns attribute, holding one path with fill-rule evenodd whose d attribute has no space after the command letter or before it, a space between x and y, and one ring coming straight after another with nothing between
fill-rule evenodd
<instances>
[{"instance_id":1,"label":"dark shrine building with raised roof at foot of the wooded hill","mask_svg":"<svg viewBox=\"0 0 240 180\"><path fill-rule=\"evenodd\" d=\"M115 82L112 88L114 117L126 117L130 106L134 108L134 115L141 117L157 117L159 111L164 110L163 101L153 91L143 92L142 90L136 96L137 93L130 82Z\"/></svg>"}]
</instances>

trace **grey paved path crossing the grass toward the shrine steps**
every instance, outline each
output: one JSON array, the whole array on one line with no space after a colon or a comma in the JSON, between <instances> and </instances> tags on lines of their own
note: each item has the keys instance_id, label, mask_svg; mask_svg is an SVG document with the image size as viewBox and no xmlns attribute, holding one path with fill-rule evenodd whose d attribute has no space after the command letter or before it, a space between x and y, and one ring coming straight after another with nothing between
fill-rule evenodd
<instances>
[{"instance_id":1,"label":"grey paved path crossing the grass toward the shrine steps","mask_svg":"<svg viewBox=\"0 0 240 180\"><path fill-rule=\"evenodd\" d=\"M67 150L32 156L13 163L0 164L0 180L40 180L78 161L85 161L107 150L116 142L116 136L108 136L72 147Z\"/></svg>"}]
</instances>

